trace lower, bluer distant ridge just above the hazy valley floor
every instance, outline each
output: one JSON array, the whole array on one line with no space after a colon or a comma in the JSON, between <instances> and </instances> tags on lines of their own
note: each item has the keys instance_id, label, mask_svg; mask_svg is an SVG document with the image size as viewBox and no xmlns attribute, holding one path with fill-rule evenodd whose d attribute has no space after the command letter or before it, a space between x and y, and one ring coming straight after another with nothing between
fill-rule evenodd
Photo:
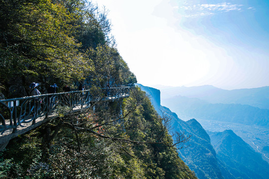
<instances>
[{"instance_id":1,"label":"lower, bluer distant ridge just above the hazy valley floor","mask_svg":"<svg viewBox=\"0 0 269 179\"><path fill-rule=\"evenodd\" d=\"M206 100L186 96L163 99L162 103L177 114L184 114L198 119L269 127L269 109L261 109L246 104L212 104Z\"/></svg>"}]
</instances>

